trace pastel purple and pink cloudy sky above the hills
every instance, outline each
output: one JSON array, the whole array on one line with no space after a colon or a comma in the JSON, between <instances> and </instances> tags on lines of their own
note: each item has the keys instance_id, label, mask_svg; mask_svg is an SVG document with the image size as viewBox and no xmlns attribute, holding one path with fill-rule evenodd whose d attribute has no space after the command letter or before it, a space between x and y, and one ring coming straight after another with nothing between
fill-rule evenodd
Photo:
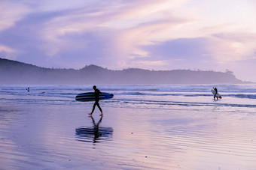
<instances>
[{"instance_id":1,"label":"pastel purple and pink cloudy sky above the hills","mask_svg":"<svg viewBox=\"0 0 256 170\"><path fill-rule=\"evenodd\" d=\"M254 0L0 0L0 58L233 71L256 82Z\"/></svg>"}]
</instances>

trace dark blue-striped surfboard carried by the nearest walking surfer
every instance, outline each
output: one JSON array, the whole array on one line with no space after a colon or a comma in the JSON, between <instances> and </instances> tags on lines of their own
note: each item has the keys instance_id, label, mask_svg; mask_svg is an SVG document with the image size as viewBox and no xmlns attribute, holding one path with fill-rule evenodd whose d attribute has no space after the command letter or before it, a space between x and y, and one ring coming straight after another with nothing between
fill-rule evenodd
<instances>
[{"instance_id":1,"label":"dark blue-striped surfboard carried by the nearest walking surfer","mask_svg":"<svg viewBox=\"0 0 256 170\"><path fill-rule=\"evenodd\" d=\"M99 100L111 99L113 97L114 97L114 94L109 94L109 93L104 93L104 92L102 92L102 94L99 94ZM95 100L94 92L78 94L75 97L75 100L78 100L81 102L94 101Z\"/></svg>"}]
</instances>

